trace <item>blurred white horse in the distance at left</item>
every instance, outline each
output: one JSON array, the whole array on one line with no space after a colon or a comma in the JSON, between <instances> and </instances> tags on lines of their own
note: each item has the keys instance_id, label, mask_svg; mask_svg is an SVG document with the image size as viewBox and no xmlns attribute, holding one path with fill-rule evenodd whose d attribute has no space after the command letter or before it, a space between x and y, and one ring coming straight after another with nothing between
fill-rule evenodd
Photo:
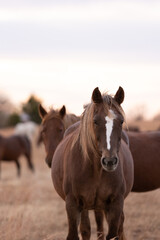
<instances>
[{"instance_id":1,"label":"blurred white horse in the distance at left","mask_svg":"<svg viewBox=\"0 0 160 240\"><path fill-rule=\"evenodd\" d=\"M15 135L26 135L32 142L33 137L36 133L36 129L37 129L37 124L32 121L28 121L28 122L24 122L24 123L17 123L17 125L15 126L15 129L14 129L14 134Z\"/></svg>"}]
</instances>

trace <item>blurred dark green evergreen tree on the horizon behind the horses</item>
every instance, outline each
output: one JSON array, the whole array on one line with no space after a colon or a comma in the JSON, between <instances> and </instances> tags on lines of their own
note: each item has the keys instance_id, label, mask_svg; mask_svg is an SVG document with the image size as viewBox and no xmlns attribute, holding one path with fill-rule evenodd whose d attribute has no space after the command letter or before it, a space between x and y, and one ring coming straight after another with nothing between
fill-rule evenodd
<instances>
[{"instance_id":1,"label":"blurred dark green evergreen tree on the horizon behind the horses","mask_svg":"<svg viewBox=\"0 0 160 240\"><path fill-rule=\"evenodd\" d=\"M31 121L38 124L41 123L41 118L38 113L38 105L40 103L41 101L37 97L31 95L28 101L22 105L22 110L29 115Z\"/></svg>"}]
</instances>

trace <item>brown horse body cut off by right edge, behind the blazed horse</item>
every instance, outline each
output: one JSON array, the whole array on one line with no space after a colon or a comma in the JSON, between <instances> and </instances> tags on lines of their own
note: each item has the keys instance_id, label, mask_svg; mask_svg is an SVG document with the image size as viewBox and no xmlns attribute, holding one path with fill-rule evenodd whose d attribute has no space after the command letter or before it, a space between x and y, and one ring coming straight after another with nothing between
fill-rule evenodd
<instances>
[{"instance_id":1,"label":"brown horse body cut off by right edge, behind the blazed horse","mask_svg":"<svg viewBox=\"0 0 160 240\"><path fill-rule=\"evenodd\" d=\"M160 132L127 132L134 160L132 191L145 192L160 187Z\"/></svg>"}]
</instances>

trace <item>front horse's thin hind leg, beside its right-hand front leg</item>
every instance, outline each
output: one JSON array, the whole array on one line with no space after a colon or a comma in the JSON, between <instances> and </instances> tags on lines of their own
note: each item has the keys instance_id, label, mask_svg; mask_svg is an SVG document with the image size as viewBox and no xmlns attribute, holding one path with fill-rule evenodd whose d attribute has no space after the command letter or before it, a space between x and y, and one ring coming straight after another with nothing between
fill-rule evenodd
<instances>
[{"instance_id":1,"label":"front horse's thin hind leg, beside its right-hand front leg","mask_svg":"<svg viewBox=\"0 0 160 240\"><path fill-rule=\"evenodd\" d=\"M104 231L103 231L103 212L102 211L94 211L95 220L97 224L97 239L104 240Z\"/></svg>"}]
</instances>

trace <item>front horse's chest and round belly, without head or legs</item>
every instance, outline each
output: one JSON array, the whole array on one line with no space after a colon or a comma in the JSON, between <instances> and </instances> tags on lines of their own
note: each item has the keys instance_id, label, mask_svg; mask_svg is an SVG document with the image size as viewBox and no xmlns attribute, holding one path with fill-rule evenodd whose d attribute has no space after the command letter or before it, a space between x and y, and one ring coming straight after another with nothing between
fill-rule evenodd
<instances>
[{"instance_id":1,"label":"front horse's chest and round belly, without head or legs","mask_svg":"<svg viewBox=\"0 0 160 240\"><path fill-rule=\"evenodd\" d=\"M72 152L65 154L63 149L71 144L68 141L72 138L72 134L58 145L53 157L52 179L58 194L65 200L71 191L76 201L88 210L104 210L106 200L109 200L110 197L116 197L119 193L125 198L133 185L133 178L127 176L130 174L128 169L133 169L133 160L126 143L123 140L121 142L119 153L121 162L116 173L110 173L102 169L100 160L97 161L94 156L91 156L91 159L96 164L73 161L73 157L74 159L83 159L82 153L77 151L76 146L73 147ZM127 179L129 179L128 182L126 182Z\"/></svg>"}]
</instances>

